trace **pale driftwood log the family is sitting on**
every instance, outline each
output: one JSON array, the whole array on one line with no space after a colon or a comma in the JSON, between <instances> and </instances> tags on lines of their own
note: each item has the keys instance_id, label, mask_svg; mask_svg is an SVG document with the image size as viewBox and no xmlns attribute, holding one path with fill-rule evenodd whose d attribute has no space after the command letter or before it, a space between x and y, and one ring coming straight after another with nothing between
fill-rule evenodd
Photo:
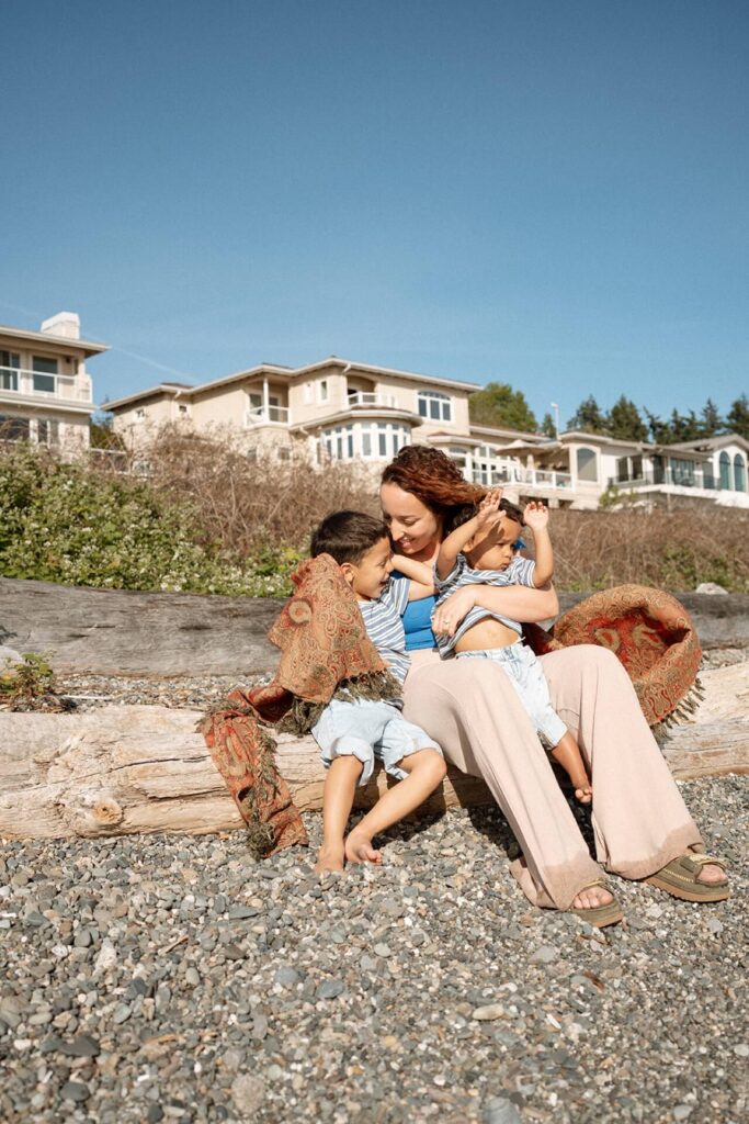
<instances>
[{"instance_id":1,"label":"pale driftwood log the family is sitting on","mask_svg":"<svg viewBox=\"0 0 749 1124\"><path fill-rule=\"evenodd\" d=\"M749 772L749 664L704 673L695 722L675 729L666 758L677 779ZM71 714L0 714L0 837L63 839L241 827L216 771L197 711L109 706ZM319 809L323 772L311 738L282 737L281 772L303 812ZM359 791L369 806L380 772ZM491 803L457 770L426 810Z\"/></svg>"}]
</instances>

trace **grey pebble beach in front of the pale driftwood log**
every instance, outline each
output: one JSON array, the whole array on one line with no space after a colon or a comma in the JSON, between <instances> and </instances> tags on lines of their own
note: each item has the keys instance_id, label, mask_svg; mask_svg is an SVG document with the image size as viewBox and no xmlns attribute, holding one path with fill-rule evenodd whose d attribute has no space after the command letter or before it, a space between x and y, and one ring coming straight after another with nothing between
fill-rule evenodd
<instances>
[{"instance_id":1,"label":"grey pebble beach in front of the pale driftwood log","mask_svg":"<svg viewBox=\"0 0 749 1124\"><path fill-rule=\"evenodd\" d=\"M322 881L241 833L7 844L0 1121L742 1124L746 789L682 789L734 898L616 882L604 933L528 906L491 809Z\"/></svg>"}]
</instances>

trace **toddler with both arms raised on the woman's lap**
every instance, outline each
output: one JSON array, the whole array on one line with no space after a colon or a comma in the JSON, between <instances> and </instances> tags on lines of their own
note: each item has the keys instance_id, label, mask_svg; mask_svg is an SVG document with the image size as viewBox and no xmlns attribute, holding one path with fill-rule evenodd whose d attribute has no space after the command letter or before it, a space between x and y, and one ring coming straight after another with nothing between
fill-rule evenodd
<instances>
[{"instance_id":1,"label":"toddler with both arms raised on the woman's lap","mask_svg":"<svg viewBox=\"0 0 749 1124\"><path fill-rule=\"evenodd\" d=\"M514 547L523 517L533 532L536 562L521 558ZM502 499L500 489L488 492L473 518L456 527L439 549L437 606L462 586L546 586L554 574L548 524L549 513L542 504L528 504L523 516L520 508ZM521 635L519 622L475 606L453 636L437 636L437 646L442 658L455 652L458 659L490 659L502 664L537 731L551 746L552 760L569 776L575 796L581 804L590 804L593 789L579 746L551 708L541 664Z\"/></svg>"}]
</instances>

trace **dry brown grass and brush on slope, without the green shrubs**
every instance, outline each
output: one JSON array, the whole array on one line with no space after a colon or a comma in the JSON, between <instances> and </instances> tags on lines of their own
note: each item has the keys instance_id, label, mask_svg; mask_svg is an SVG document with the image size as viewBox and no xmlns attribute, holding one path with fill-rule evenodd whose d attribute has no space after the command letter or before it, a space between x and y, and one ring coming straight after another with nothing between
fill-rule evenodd
<instances>
[{"instance_id":1,"label":"dry brown grass and brush on slope, without the green shrubs","mask_svg":"<svg viewBox=\"0 0 749 1124\"><path fill-rule=\"evenodd\" d=\"M250 461L230 432L185 437L167 427L146 456L152 482L175 502L190 504L204 541L239 556L304 551L310 531L329 511L378 510L376 478L365 465L320 470L303 457ZM678 591L715 581L749 592L746 510L696 505L650 514L558 510L551 514L551 535L559 589L636 582Z\"/></svg>"}]
</instances>

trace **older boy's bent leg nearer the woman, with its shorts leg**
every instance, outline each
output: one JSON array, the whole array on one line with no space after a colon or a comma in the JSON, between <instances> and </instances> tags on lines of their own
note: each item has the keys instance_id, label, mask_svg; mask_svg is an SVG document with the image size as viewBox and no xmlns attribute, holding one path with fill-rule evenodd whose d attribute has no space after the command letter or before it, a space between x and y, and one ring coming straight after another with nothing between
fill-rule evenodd
<instances>
[{"instance_id":1,"label":"older boy's bent leg nearer the woman, with its shorts leg","mask_svg":"<svg viewBox=\"0 0 749 1124\"><path fill-rule=\"evenodd\" d=\"M403 779L389 788L349 832L346 837L348 862L381 862L380 852L372 846L374 836L415 812L447 772L445 759L431 744L431 738L398 710L383 736L382 755L387 771Z\"/></svg>"}]
</instances>

